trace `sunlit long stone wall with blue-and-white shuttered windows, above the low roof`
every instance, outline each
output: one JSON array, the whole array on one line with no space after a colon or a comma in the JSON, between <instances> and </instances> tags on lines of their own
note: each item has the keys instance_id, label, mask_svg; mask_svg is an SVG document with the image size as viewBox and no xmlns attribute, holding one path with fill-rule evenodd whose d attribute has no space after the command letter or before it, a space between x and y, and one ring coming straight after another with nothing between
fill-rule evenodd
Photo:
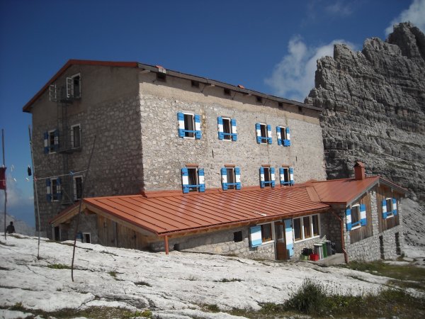
<instances>
[{"instance_id":1,"label":"sunlit long stone wall with blue-and-white shuttered windows, above the low roof","mask_svg":"<svg viewBox=\"0 0 425 319\"><path fill-rule=\"evenodd\" d=\"M203 90L203 93L200 91ZM259 185L259 167L283 164L294 168L295 183L309 179L323 180L324 152L318 112L297 106L280 110L275 101L255 104L255 96L224 96L221 88L191 86L184 79L167 77L157 82L155 74L140 75L140 118L142 121L143 169L146 190L181 189L181 168L196 163L205 169L205 186L220 187L220 168L234 164L241 168L243 186ZM222 97L220 97L222 96ZM239 98L239 99L237 99ZM202 138L183 139L178 135L178 112L201 116ZM302 113L308 113L302 114ZM235 118L237 141L219 140L217 116ZM271 125L273 143L256 143L255 123ZM289 126L290 147L277 144L276 126Z\"/></svg>"}]
</instances>

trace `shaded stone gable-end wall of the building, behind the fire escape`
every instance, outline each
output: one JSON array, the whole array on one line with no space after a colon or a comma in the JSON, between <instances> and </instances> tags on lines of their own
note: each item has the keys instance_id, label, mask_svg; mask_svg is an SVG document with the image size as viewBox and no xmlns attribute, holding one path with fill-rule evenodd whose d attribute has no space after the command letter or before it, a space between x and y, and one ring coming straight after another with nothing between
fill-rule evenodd
<instances>
[{"instance_id":1,"label":"shaded stone gable-end wall of the building, behind the fire escape","mask_svg":"<svg viewBox=\"0 0 425 319\"><path fill-rule=\"evenodd\" d=\"M137 194L142 188L140 100L137 84L131 88L130 84L118 81L126 77L130 80L135 75L132 75L132 70L123 68L74 66L57 79L57 85L64 84L65 77L78 72L81 74L81 99L67 106L67 124L69 128L71 125L81 125L81 152L69 155L44 153L43 133L62 128L62 121L58 121L61 108L58 108L57 103L49 101L46 92L32 110L36 176L64 174L64 162L67 162L68 172L84 171L96 135L91 169L84 190L86 196ZM115 89L117 91L111 94ZM60 134L63 134L62 130ZM85 175L84 172L81 174ZM47 237L52 237L49 220L65 206L59 201L47 202L45 180L38 181L37 189L41 230ZM72 177L62 177L62 190L62 197L72 198Z\"/></svg>"}]
</instances>

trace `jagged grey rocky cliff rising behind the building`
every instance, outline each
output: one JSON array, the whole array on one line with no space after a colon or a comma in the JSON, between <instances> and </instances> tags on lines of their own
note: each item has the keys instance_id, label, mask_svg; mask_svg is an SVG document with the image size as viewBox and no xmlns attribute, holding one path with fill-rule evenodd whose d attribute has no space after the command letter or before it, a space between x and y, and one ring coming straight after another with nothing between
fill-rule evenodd
<instances>
[{"instance_id":1,"label":"jagged grey rocky cliff rising behind the building","mask_svg":"<svg viewBox=\"0 0 425 319\"><path fill-rule=\"evenodd\" d=\"M350 177L356 160L425 202L425 36L400 23L361 52L335 45L317 61L306 103L321 116L328 179Z\"/></svg>"}]
</instances>

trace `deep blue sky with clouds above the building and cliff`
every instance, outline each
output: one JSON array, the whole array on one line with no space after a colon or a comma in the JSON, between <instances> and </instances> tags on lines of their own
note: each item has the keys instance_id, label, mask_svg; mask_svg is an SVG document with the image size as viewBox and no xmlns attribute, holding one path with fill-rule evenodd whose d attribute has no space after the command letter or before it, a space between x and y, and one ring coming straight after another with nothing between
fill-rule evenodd
<instances>
[{"instance_id":1,"label":"deep blue sky with clouds above the building and cliff","mask_svg":"<svg viewBox=\"0 0 425 319\"><path fill-rule=\"evenodd\" d=\"M162 65L303 101L315 61L332 55L334 43L361 50L365 38L385 39L399 21L424 31L424 17L425 0L0 0L8 213L35 223L26 180L31 116L22 107L69 59Z\"/></svg>"}]
</instances>

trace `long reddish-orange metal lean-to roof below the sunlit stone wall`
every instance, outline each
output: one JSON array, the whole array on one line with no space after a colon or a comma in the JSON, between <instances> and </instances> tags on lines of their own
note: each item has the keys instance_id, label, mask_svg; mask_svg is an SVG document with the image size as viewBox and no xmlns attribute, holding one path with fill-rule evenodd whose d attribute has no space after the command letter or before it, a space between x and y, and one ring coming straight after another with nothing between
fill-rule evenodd
<instances>
[{"instance_id":1,"label":"long reddish-orange metal lean-to roof below the sunlit stone wall","mask_svg":"<svg viewBox=\"0 0 425 319\"><path fill-rule=\"evenodd\" d=\"M310 198L307 187L189 195L171 193L153 197L130 195L84 198L84 206L89 210L97 208L156 235L276 220L329 208L327 204L315 201L316 198ZM74 210L64 213L71 218L75 215ZM67 216L60 214L51 223L64 219L68 219Z\"/></svg>"}]
</instances>

